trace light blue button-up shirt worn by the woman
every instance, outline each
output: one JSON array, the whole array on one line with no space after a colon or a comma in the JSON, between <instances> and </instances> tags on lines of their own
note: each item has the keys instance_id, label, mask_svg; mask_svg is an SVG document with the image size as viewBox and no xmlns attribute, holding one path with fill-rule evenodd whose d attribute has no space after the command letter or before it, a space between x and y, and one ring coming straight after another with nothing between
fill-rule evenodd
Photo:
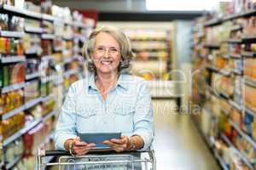
<instances>
[{"instance_id":1,"label":"light blue button-up shirt worn by the woman","mask_svg":"<svg viewBox=\"0 0 256 170\"><path fill-rule=\"evenodd\" d=\"M55 127L55 149L65 150L64 142L78 133L121 132L143 138L142 150L154 139L151 96L143 78L121 74L116 86L103 100L95 76L74 82L68 89Z\"/></svg>"}]
</instances>

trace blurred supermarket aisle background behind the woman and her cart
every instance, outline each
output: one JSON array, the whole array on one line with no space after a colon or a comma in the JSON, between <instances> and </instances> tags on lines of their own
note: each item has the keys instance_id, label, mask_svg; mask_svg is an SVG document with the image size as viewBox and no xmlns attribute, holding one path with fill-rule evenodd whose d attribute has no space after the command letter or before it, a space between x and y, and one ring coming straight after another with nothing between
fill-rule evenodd
<instances>
[{"instance_id":1,"label":"blurred supermarket aisle background behind the woman and her cart","mask_svg":"<svg viewBox=\"0 0 256 170\"><path fill-rule=\"evenodd\" d=\"M82 47L100 26L130 38L148 81L157 169L256 169L256 1L0 0L0 162L53 150ZM45 160L56 161L54 156Z\"/></svg>"}]
</instances>

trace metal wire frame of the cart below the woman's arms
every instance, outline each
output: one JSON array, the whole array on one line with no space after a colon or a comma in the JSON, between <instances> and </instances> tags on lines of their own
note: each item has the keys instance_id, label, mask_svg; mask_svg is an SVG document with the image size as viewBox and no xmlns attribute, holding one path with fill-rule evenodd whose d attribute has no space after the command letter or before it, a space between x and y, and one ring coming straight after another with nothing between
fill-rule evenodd
<instances>
[{"instance_id":1,"label":"metal wire frame of the cart below the woman's arms","mask_svg":"<svg viewBox=\"0 0 256 170\"><path fill-rule=\"evenodd\" d=\"M148 155L147 158L135 159L132 154L143 153ZM48 156L59 156L55 162L44 162L45 158ZM114 160L114 158L117 158ZM121 159L122 158L122 159ZM75 161L75 159L79 161ZM67 161L68 160L68 161ZM132 152L123 152L117 153L113 150L101 151L101 150L90 150L90 152L84 156L71 156L69 152L64 150L38 150L38 170L44 170L46 167L56 166L59 170L65 166L94 166L90 169L105 169L109 167L105 166L118 166L118 165L131 165L129 169L134 170L134 164L141 163L144 166L143 169L156 170L156 160L154 156L153 148L150 148L146 151L132 151ZM96 168L95 168L96 166ZM111 168L112 169L112 168ZM128 169L128 166L127 166Z\"/></svg>"}]
</instances>

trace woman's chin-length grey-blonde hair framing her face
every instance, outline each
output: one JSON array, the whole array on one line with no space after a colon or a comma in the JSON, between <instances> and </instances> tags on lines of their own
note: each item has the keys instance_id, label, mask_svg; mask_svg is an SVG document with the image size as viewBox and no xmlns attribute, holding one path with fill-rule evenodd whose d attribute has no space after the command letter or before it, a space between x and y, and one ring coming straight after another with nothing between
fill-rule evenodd
<instances>
[{"instance_id":1,"label":"woman's chin-length grey-blonde hair framing her face","mask_svg":"<svg viewBox=\"0 0 256 170\"><path fill-rule=\"evenodd\" d=\"M95 48L96 35L100 32L106 32L113 36L117 42L119 42L121 61L119 64L119 72L130 71L131 59L134 58L134 54L131 51L131 42L128 37L125 36L123 31L120 31L116 27L104 26L96 29L90 33L87 42L84 42L84 47L82 49L82 54L86 60L86 66L89 71L96 72L96 66L93 63L92 55Z\"/></svg>"}]
</instances>

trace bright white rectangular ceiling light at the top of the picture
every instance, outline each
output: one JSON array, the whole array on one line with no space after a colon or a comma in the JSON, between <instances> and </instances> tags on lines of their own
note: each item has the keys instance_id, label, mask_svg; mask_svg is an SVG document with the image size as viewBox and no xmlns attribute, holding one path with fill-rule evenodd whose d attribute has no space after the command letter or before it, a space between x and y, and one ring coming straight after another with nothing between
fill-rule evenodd
<instances>
[{"instance_id":1,"label":"bright white rectangular ceiling light at the top of the picture","mask_svg":"<svg viewBox=\"0 0 256 170\"><path fill-rule=\"evenodd\" d=\"M218 6L219 2L231 0L146 0L147 10L168 11L202 11L211 10Z\"/></svg>"}]
</instances>

